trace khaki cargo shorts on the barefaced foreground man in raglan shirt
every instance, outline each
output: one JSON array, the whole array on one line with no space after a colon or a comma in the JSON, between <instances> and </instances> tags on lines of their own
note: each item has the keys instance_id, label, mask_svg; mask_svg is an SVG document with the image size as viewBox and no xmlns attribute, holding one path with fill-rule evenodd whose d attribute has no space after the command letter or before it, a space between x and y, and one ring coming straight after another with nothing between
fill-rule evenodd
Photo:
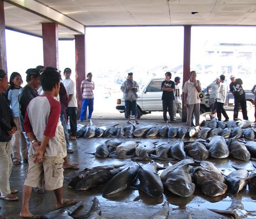
<instances>
[{"instance_id":1,"label":"khaki cargo shorts on the barefaced foreground man in raglan shirt","mask_svg":"<svg viewBox=\"0 0 256 219\"><path fill-rule=\"evenodd\" d=\"M42 188L45 180L46 190L55 190L63 186L63 159L60 155L54 157L43 157L43 161L35 164L32 154L29 154L27 166L27 178L24 185Z\"/></svg>"}]
</instances>

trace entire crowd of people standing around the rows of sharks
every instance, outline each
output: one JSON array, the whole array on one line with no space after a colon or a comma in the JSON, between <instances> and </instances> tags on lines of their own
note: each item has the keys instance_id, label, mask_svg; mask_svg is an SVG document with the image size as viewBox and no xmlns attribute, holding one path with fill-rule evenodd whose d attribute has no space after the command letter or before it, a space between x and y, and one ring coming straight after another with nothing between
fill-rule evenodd
<instances>
[{"instance_id":1,"label":"entire crowd of people standing around the rows of sharks","mask_svg":"<svg viewBox=\"0 0 256 219\"><path fill-rule=\"evenodd\" d=\"M0 199L15 201L17 190L10 188L9 177L13 165L21 162L28 163L27 178L23 186L22 210L20 216L30 218L29 200L34 192L43 193L45 189L53 190L56 197L56 207L74 204L76 199L62 197L63 169L79 169L68 162L67 153L73 153L69 140L76 139L77 120L75 84L70 79L72 71L64 69L65 79L61 80L61 73L56 68L37 66L26 71L27 85L21 87L23 80L20 73L13 72L8 82L7 73L0 70ZM94 106L94 82L92 73L81 83L82 109L78 122L85 119L88 108L88 119L92 118ZM186 126L191 126L192 113L195 114L195 126L199 126L199 111L201 99L201 83L196 80L196 72L190 72L190 78L183 89L179 77L171 80L172 74L165 73L162 82L163 120L167 121L167 112L171 122L176 119L178 112L182 117L182 98L187 109ZM217 113L217 118L229 120L223 105L226 101L228 86L224 82L225 76L220 75L215 82L207 86L210 109ZM235 98L234 119L238 117L238 106L241 105L243 119L248 119L246 110L243 81L230 76L230 91ZM131 113L137 118L137 104L139 86L133 80L133 73L128 73L127 80L121 86L125 100L125 113L130 120ZM255 94L256 85L252 89ZM44 107L42 107L44 106ZM256 113L255 113L256 117ZM67 131L67 120L70 122L71 133ZM256 118L255 118L256 119ZM20 150L21 155L20 156ZM63 168L62 168L63 167ZM43 174L42 174L43 173ZM36 218L36 217L34 217Z\"/></svg>"}]
</instances>

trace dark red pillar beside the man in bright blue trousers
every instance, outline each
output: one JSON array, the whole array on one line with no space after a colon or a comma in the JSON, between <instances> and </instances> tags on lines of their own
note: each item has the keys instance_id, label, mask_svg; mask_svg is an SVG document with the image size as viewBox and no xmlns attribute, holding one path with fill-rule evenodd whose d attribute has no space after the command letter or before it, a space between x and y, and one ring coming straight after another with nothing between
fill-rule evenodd
<instances>
[{"instance_id":1,"label":"dark red pillar beside the man in bright blue trousers","mask_svg":"<svg viewBox=\"0 0 256 219\"><path fill-rule=\"evenodd\" d=\"M77 116L79 117L82 106L81 82L86 78L86 37L85 35L75 35L74 40L76 100L78 105Z\"/></svg>"}]
</instances>

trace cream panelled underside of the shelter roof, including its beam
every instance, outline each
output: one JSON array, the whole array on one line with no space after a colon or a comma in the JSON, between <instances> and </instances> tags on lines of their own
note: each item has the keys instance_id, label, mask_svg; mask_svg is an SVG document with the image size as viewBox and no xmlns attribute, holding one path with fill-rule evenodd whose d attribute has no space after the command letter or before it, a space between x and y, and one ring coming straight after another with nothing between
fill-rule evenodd
<instances>
[{"instance_id":1,"label":"cream panelled underside of the shelter roof, including its beam","mask_svg":"<svg viewBox=\"0 0 256 219\"><path fill-rule=\"evenodd\" d=\"M57 22L60 39L91 26L256 26L256 0L4 1L7 28L41 36L41 23Z\"/></svg>"}]
</instances>

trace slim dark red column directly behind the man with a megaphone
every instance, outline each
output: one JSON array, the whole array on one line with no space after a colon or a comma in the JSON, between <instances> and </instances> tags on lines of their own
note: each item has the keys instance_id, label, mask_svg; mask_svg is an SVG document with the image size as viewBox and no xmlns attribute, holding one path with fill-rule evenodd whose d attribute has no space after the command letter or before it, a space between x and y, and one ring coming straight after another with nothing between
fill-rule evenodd
<instances>
[{"instance_id":1,"label":"slim dark red column directly behind the man with a megaphone","mask_svg":"<svg viewBox=\"0 0 256 219\"><path fill-rule=\"evenodd\" d=\"M189 80L190 73L190 46L191 46L191 25L184 26L184 51L183 51L183 86ZM187 108L184 99L182 100L182 121L187 121Z\"/></svg>"}]
</instances>

